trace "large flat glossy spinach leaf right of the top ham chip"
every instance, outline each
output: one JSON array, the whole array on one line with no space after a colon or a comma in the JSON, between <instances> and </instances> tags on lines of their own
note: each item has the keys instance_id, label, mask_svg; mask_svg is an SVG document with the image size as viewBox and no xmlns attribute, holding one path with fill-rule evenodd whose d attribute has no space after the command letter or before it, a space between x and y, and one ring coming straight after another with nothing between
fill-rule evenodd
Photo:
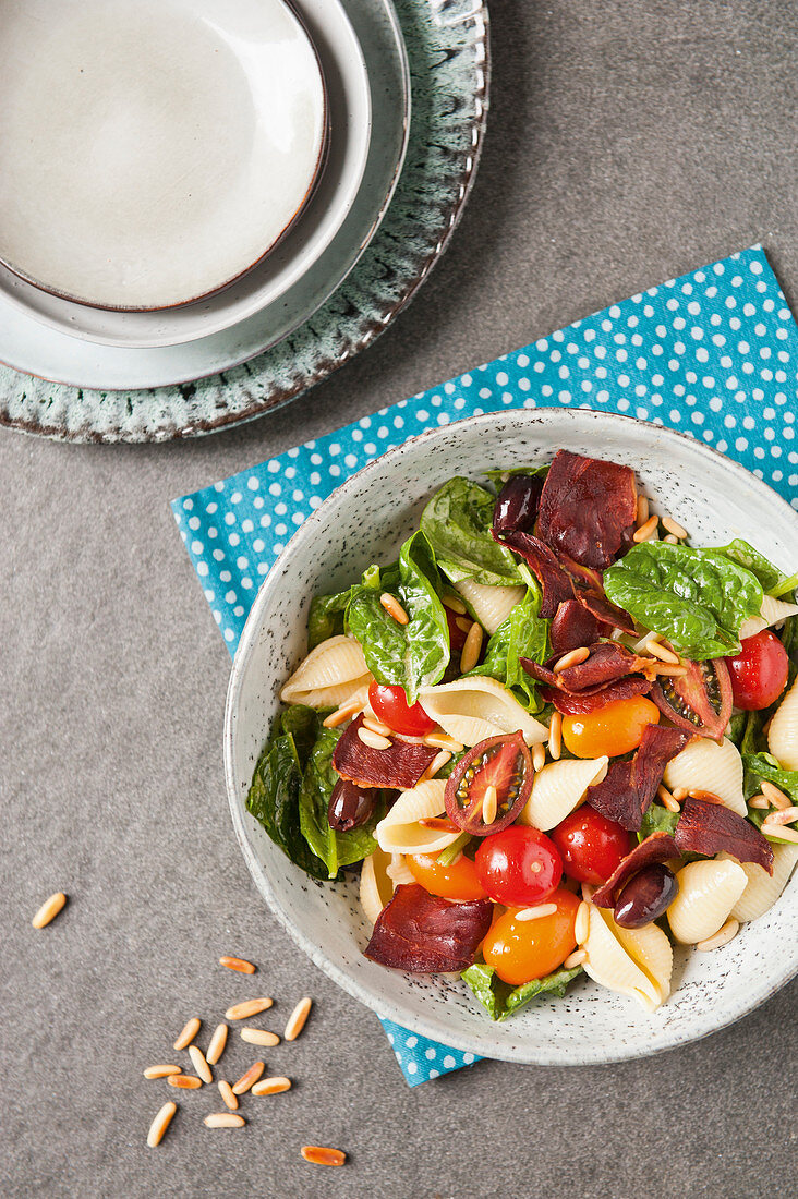
<instances>
[{"instance_id":1,"label":"large flat glossy spinach leaf right of the top ham chip","mask_svg":"<svg viewBox=\"0 0 798 1199\"><path fill-rule=\"evenodd\" d=\"M762 607L755 574L718 549L642 542L604 574L604 589L646 628L688 657L739 650L738 632Z\"/></svg>"}]
</instances>

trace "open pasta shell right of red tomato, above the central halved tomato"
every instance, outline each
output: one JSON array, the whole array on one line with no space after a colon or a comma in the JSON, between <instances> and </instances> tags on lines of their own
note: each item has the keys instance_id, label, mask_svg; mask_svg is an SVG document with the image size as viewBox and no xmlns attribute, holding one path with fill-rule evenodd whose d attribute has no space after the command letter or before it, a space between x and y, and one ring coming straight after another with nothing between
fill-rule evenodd
<instances>
[{"instance_id":1,"label":"open pasta shell right of red tomato, above the central halved tomato","mask_svg":"<svg viewBox=\"0 0 798 1199\"><path fill-rule=\"evenodd\" d=\"M518 730L529 746L548 739L546 725L535 721L497 679L456 679L439 687L422 687L419 698L425 712L464 746Z\"/></svg>"}]
</instances>

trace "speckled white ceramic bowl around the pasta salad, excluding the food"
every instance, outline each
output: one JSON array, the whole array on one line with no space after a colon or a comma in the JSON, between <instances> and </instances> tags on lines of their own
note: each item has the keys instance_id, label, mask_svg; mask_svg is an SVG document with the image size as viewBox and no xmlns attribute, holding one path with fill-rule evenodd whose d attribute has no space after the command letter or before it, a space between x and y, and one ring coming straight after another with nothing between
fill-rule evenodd
<instances>
[{"instance_id":1,"label":"speckled white ceramic bowl around the pasta salad, excluding the food","mask_svg":"<svg viewBox=\"0 0 798 1199\"><path fill-rule=\"evenodd\" d=\"M256 884L313 962L379 1014L488 1058L607 1062L694 1041L758 1006L798 971L798 878L775 906L712 953L678 951L673 995L653 1016L578 980L560 1000L492 1024L467 987L388 970L362 956L370 926L358 880L318 884L246 812L252 770L280 709L278 691L306 649L311 597L391 560L426 499L456 474L550 460L566 447L634 466L648 494L698 544L745 537L794 567L798 518L764 483L713 450L623 416L548 409L473 417L410 439L348 480L306 520L264 582L241 638L227 698L224 761L233 824Z\"/></svg>"}]
</instances>

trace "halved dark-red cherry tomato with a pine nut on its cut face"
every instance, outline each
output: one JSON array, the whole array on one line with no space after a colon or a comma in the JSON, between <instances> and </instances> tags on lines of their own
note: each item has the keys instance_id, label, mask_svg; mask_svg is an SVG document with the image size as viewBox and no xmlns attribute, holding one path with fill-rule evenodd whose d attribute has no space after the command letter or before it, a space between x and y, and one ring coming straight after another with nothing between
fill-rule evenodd
<instances>
[{"instance_id":1,"label":"halved dark-red cherry tomato with a pine nut on its cut face","mask_svg":"<svg viewBox=\"0 0 798 1199\"><path fill-rule=\"evenodd\" d=\"M446 815L474 837L500 832L529 799L532 778L523 734L486 737L463 754L446 779ZM496 789L496 812L486 823L482 803L488 787Z\"/></svg>"}]
</instances>

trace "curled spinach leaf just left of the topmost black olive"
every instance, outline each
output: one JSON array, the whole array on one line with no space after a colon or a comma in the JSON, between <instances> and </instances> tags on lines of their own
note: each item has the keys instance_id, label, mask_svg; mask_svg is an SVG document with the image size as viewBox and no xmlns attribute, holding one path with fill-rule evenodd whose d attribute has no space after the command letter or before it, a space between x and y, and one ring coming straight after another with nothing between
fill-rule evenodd
<instances>
[{"instance_id":1,"label":"curled spinach leaf just left of the topmost black olive","mask_svg":"<svg viewBox=\"0 0 798 1199\"><path fill-rule=\"evenodd\" d=\"M450 478L421 514L438 566L452 583L474 579L488 586L518 584L518 566L491 536L496 498L468 478Z\"/></svg>"}]
</instances>

